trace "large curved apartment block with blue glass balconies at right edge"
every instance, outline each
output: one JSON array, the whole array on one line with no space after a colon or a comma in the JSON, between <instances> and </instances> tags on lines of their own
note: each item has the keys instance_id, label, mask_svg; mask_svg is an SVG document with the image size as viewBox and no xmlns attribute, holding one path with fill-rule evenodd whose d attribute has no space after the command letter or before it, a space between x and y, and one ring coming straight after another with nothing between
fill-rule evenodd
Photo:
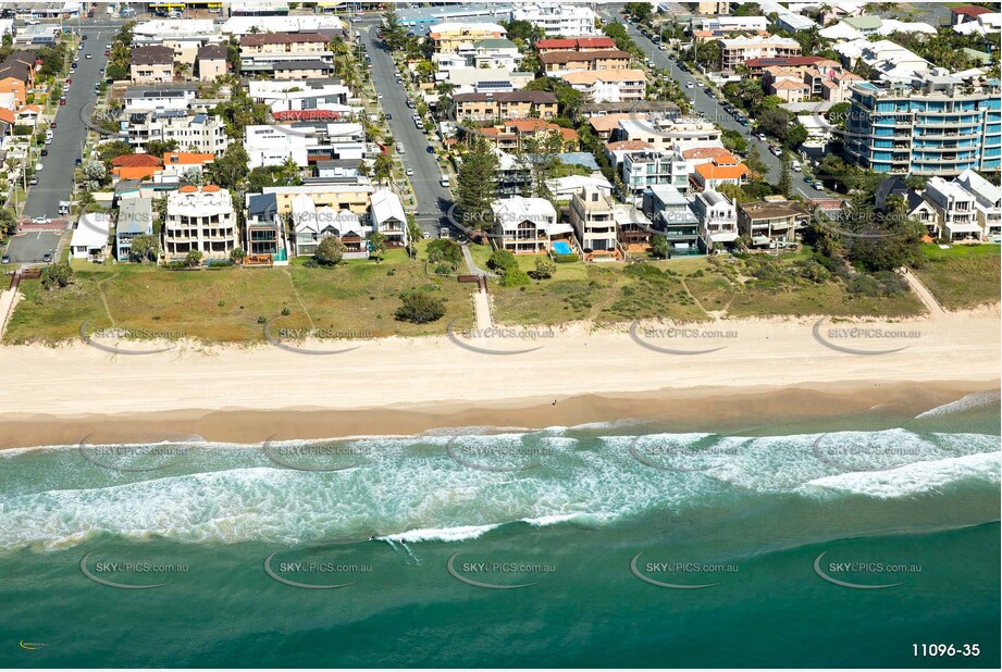
<instances>
[{"instance_id":1,"label":"large curved apartment block with blue glass balconies at right edge","mask_svg":"<svg viewBox=\"0 0 1002 672\"><path fill-rule=\"evenodd\" d=\"M998 171L1002 98L998 80L937 70L908 83L861 82L845 124L845 154L877 173L953 176Z\"/></svg>"}]
</instances>

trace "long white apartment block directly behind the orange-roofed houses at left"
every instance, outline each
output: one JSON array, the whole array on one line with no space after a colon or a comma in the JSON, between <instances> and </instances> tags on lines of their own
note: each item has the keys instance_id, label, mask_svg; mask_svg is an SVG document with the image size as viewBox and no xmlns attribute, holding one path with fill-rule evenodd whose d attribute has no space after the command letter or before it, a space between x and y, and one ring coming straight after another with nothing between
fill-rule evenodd
<instances>
[{"instance_id":1,"label":"long white apartment block directly behind the orange-roofed houses at left","mask_svg":"<svg viewBox=\"0 0 1002 672\"><path fill-rule=\"evenodd\" d=\"M136 112L128 116L127 132L128 144L137 148L152 140L176 140L183 151L220 155L230 146L223 121L205 112Z\"/></svg>"}]
</instances>

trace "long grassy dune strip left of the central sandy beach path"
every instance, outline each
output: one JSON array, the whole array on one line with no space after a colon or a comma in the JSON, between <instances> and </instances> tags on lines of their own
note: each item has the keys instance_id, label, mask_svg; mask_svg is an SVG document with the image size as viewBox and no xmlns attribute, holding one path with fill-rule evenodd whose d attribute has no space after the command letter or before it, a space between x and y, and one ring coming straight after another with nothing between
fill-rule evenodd
<instances>
[{"instance_id":1,"label":"long grassy dune strip left of the central sandy beach path","mask_svg":"<svg viewBox=\"0 0 1002 672\"><path fill-rule=\"evenodd\" d=\"M381 264L352 260L334 269L310 269L301 260L274 269L91 269L77 271L73 284L60 290L46 291L40 281L23 282L25 299L4 340L76 338L85 320L92 328L170 332L207 343L263 340L260 318L275 319L273 328L312 328L333 337L442 334L454 319L463 328L473 324L470 287L454 277L426 275L423 261L411 261L399 250ZM411 288L445 299L445 315L430 324L395 320L399 294Z\"/></svg>"}]
</instances>

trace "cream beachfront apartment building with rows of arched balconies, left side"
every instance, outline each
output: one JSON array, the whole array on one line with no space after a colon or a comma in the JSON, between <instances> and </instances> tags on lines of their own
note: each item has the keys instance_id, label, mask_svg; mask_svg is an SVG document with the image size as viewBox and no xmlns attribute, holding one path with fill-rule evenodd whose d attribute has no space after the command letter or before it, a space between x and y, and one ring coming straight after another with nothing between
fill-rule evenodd
<instances>
[{"instance_id":1,"label":"cream beachfront apartment building with rows of arched balconies, left side","mask_svg":"<svg viewBox=\"0 0 1002 672\"><path fill-rule=\"evenodd\" d=\"M169 260L199 250L207 259L227 259L239 246L230 191L215 185L185 185L168 196L163 251Z\"/></svg>"}]
</instances>

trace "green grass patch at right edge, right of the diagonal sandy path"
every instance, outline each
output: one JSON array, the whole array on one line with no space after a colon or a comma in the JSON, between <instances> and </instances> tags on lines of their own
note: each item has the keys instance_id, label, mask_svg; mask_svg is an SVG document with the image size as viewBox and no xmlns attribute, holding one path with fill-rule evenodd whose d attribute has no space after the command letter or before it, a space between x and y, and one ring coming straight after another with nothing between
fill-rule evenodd
<instances>
[{"instance_id":1,"label":"green grass patch at right edge, right of the diagonal sandy path","mask_svg":"<svg viewBox=\"0 0 1002 672\"><path fill-rule=\"evenodd\" d=\"M947 310L999 302L1000 246L924 245L926 263L915 273Z\"/></svg>"}]
</instances>

